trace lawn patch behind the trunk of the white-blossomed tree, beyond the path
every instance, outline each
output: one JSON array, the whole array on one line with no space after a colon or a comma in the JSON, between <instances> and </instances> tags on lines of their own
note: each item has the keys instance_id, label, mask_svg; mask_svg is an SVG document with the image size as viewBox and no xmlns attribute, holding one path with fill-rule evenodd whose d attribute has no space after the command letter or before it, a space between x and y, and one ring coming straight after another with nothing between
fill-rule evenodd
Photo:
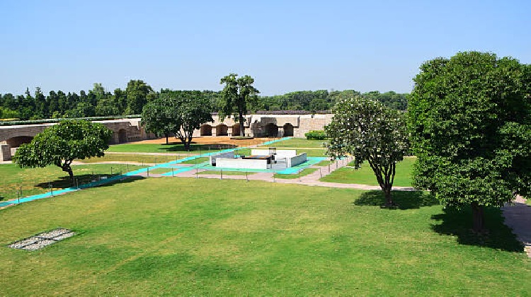
<instances>
[{"instance_id":1,"label":"lawn patch behind the trunk of the white-blossomed tree, beyond the path","mask_svg":"<svg viewBox=\"0 0 531 297\"><path fill-rule=\"evenodd\" d=\"M404 158L404 161L396 164L396 175L394 176L393 185L399 187L411 187L411 166L413 163L415 163L415 158L408 157ZM339 168L331 174L322 177L321 181L340 182L345 184L378 185L375 173L372 172L368 163L364 163L358 170L349 167Z\"/></svg>"}]
</instances>

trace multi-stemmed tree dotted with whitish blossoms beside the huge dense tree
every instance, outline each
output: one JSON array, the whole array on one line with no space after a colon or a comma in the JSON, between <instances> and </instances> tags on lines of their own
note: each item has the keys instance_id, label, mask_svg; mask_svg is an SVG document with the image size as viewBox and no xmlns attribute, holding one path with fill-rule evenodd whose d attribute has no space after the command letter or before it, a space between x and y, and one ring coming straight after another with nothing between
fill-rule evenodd
<instances>
[{"instance_id":1,"label":"multi-stemmed tree dotted with whitish blossoms beside the huge dense tree","mask_svg":"<svg viewBox=\"0 0 531 297\"><path fill-rule=\"evenodd\" d=\"M384 192L386 206L394 206L391 190L396 163L409 151L404 115L360 96L338 101L333 113L331 123L325 126L328 155L352 155L355 169L367 161Z\"/></svg>"}]
</instances>

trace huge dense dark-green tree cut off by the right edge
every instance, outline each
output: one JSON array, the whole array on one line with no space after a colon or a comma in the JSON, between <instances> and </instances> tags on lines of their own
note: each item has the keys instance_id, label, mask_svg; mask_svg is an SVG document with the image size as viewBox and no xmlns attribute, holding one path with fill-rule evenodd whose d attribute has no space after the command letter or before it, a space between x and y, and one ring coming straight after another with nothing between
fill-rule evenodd
<instances>
[{"instance_id":1,"label":"huge dense dark-green tree cut off by the right edge","mask_svg":"<svg viewBox=\"0 0 531 297\"><path fill-rule=\"evenodd\" d=\"M445 207L471 206L484 231L484 207L531 192L531 66L459 52L420 69L409 98L413 183Z\"/></svg>"}]
</instances>

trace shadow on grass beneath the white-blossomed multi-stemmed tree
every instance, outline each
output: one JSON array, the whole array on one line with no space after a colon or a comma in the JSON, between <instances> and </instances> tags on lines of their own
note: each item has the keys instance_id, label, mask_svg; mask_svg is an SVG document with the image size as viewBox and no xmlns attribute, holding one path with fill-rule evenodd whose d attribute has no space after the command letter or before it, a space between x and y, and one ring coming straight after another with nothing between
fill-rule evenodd
<instances>
[{"instance_id":1,"label":"shadow on grass beneath the white-blossomed multi-stemmed tree","mask_svg":"<svg viewBox=\"0 0 531 297\"><path fill-rule=\"evenodd\" d=\"M393 191L392 199L396 204L396 209L418 209L422 206L439 204L435 197L422 191ZM354 204L358 206L382 206L385 204L384 192L380 190L363 192Z\"/></svg>"}]
</instances>

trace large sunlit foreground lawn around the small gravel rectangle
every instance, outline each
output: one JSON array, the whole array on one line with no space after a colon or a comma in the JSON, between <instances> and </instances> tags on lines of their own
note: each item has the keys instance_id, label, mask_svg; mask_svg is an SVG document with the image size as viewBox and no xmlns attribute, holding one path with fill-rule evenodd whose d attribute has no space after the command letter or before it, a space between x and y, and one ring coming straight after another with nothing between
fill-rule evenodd
<instances>
[{"instance_id":1,"label":"large sunlit foreground lawn around the small gravel rectangle","mask_svg":"<svg viewBox=\"0 0 531 297\"><path fill-rule=\"evenodd\" d=\"M150 178L1 210L2 296L525 296L531 261L498 210L489 237L429 195ZM431 206L430 206L431 205ZM43 250L6 247L52 228Z\"/></svg>"}]
</instances>

